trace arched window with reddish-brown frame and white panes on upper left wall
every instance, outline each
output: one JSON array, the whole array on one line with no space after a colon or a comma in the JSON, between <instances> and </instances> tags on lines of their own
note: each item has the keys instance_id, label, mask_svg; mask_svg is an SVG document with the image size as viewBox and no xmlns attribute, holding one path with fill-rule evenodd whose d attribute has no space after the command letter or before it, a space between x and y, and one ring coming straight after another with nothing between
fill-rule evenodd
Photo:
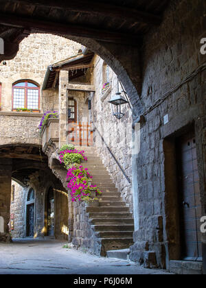
<instances>
[{"instance_id":1,"label":"arched window with reddish-brown frame and white panes on upper left wall","mask_svg":"<svg viewBox=\"0 0 206 288\"><path fill-rule=\"evenodd\" d=\"M39 86L30 81L13 85L12 110L18 108L39 110Z\"/></svg>"}]
</instances>

